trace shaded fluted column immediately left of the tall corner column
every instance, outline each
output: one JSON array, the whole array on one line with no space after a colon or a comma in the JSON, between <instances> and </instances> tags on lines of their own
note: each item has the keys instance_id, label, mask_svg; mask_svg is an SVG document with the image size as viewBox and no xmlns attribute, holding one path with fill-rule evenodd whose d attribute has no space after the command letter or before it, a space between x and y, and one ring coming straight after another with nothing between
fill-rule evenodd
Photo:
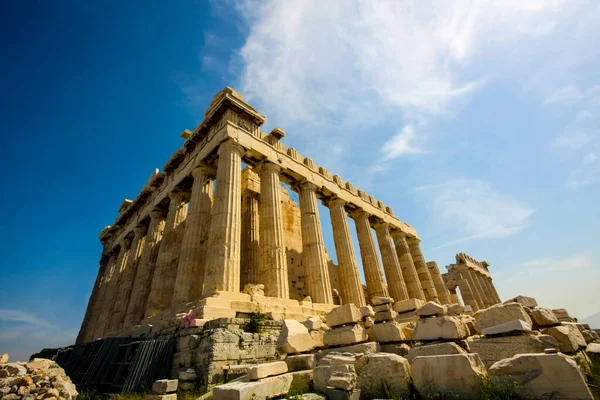
<instances>
[{"instance_id":1,"label":"shaded fluted column immediately left of the tall corner column","mask_svg":"<svg viewBox=\"0 0 600 400\"><path fill-rule=\"evenodd\" d=\"M194 183L175 279L174 305L194 301L202 296L214 172L206 165L192 170Z\"/></svg>"}]
</instances>

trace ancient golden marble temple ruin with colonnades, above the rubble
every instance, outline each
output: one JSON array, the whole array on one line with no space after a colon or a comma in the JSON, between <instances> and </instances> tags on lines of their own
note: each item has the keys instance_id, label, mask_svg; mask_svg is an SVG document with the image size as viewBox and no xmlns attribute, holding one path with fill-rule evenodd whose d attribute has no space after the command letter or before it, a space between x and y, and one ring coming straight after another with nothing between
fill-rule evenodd
<instances>
[{"instance_id":1,"label":"ancient golden marble temple ruin with colonnades, above the rubble","mask_svg":"<svg viewBox=\"0 0 600 400\"><path fill-rule=\"evenodd\" d=\"M226 87L202 123L182 133L185 143L163 171L122 203L100 234L104 250L78 343L192 302L200 318L260 311L301 319L381 296L456 303L456 286L473 310L499 301L487 264L457 256L442 276L390 207L287 148L282 129L262 132L264 122ZM317 201L329 209L338 265L324 245ZM252 285L264 293L244 290Z\"/></svg>"}]
</instances>

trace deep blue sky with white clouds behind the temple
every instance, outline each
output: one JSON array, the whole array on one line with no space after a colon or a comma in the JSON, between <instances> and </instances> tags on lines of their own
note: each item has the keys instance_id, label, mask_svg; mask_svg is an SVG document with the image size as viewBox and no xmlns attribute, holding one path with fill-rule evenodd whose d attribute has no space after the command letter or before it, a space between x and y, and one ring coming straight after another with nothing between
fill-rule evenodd
<instances>
[{"instance_id":1,"label":"deep blue sky with white clouds behind the temple","mask_svg":"<svg viewBox=\"0 0 600 400\"><path fill-rule=\"evenodd\" d=\"M98 233L225 85L442 269L466 252L503 298L600 311L597 2L23 1L0 18L0 353L74 341Z\"/></svg>"}]
</instances>

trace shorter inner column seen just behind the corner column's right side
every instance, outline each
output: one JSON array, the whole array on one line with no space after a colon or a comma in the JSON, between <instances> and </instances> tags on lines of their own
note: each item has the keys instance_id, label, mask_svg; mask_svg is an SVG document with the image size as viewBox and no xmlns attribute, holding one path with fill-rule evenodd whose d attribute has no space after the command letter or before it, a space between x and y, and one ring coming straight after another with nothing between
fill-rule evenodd
<instances>
[{"instance_id":1,"label":"shorter inner column seen just behind the corner column's right side","mask_svg":"<svg viewBox=\"0 0 600 400\"><path fill-rule=\"evenodd\" d=\"M248 284L259 284L260 279L260 223L258 193L242 193L242 250L240 290Z\"/></svg>"}]
</instances>

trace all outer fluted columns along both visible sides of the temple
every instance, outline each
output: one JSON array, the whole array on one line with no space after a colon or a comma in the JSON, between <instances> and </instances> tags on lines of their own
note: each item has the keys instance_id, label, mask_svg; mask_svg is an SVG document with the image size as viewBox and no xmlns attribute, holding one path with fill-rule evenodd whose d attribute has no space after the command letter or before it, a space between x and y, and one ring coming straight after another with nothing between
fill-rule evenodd
<instances>
[{"instance_id":1,"label":"all outer fluted columns along both visible sides of the temple","mask_svg":"<svg viewBox=\"0 0 600 400\"><path fill-rule=\"evenodd\" d=\"M85 332L82 327L82 341L118 333L162 310L215 291L238 292L242 283L263 283L265 295L289 298L281 169L270 162L258 167L260 198L247 196L249 206L258 208L259 218L249 222L258 225L260 240L246 240L246 250L251 251L246 252L243 271L240 268L244 151L233 140L221 144L216 171L207 166L195 168L191 193L170 193L166 214L160 209L152 211L147 226L136 227L133 237L127 236L116 251L101 260L101 274L86 312L86 319L92 323L84 324ZM295 189L300 194L307 289L314 302L333 304L317 187L302 181ZM339 198L327 201L339 262L340 295L344 303L362 306L367 299L345 205ZM436 291L437 266L434 271L428 268L418 239L390 232L387 223L377 223L376 246L370 215L360 209L349 215L356 225L369 298L391 296L396 301L418 298L445 302L443 296L438 299ZM244 238L247 236L245 233Z\"/></svg>"}]
</instances>

